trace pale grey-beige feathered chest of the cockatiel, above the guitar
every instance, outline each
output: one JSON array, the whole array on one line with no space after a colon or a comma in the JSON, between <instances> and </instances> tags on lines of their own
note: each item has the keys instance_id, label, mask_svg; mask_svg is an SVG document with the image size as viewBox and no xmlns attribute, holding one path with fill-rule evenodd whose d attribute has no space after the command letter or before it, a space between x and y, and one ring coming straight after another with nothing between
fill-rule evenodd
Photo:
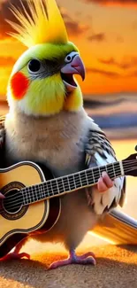
<instances>
[{"instance_id":1,"label":"pale grey-beige feathered chest of the cockatiel, above the guitar","mask_svg":"<svg viewBox=\"0 0 137 288\"><path fill-rule=\"evenodd\" d=\"M57 123L46 125L43 121L35 121L34 126L22 123L21 128L7 125L6 154L11 160L42 162L55 175L65 175L82 168L87 134L84 121L68 121L58 127Z\"/></svg>"}]
</instances>

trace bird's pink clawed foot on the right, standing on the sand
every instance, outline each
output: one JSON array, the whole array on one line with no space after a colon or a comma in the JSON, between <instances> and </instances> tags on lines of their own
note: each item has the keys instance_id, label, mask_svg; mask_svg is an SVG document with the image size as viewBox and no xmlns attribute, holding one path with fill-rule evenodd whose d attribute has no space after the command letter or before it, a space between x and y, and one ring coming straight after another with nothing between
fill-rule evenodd
<instances>
[{"instance_id":1,"label":"bird's pink clawed foot on the right, standing on the sand","mask_svg":"<svg viewBox=\"0 0 137 288\"><path fill-rule=\"evenodd\" d=\"M77 256L75 252L72 250L70 253L69 258L62 260L62 261L56 261L53 262L49 269L57 269L58 267L66 266L69 264L92 264L95 265L95 254L92 252L85 253L81 256Z\"/></svg>"}]
</instances>

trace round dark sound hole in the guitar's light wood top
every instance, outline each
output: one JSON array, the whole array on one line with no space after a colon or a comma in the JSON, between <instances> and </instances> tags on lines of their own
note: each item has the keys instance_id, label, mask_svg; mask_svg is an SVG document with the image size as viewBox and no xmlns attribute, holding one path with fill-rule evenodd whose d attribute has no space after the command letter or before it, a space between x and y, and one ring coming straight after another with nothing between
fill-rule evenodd
<instances>
[{"instance_id":1,"label":"round dark sound hole in the guitar's light wood top","mask_svg":"<svg viewBox=\"0 0 137 288\"><path fill-rule=\"evenodd\" d=\"M18 189L7 191L3 200L4 210L9 214L17 214L22 208L23 196Z\"/></svg>"}]
</instances>

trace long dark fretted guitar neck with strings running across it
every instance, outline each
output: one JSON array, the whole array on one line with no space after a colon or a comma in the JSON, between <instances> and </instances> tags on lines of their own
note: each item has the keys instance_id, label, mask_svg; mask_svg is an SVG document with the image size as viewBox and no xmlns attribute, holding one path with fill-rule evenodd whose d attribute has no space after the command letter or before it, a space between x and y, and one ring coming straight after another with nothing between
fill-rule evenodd
<instances>
[{"instance_id":1,"label":"long dark fretted guitar neck with strings running across it","mask_svg":"<svg viewBox=\"0 0 137 288\"><path fill-rule=\"evenodd\" d=\"M89 168L71 175L54 178L44 183L23 188L23 205L41 201L46 198L61 196L65 193L94 185L106 171L110 179L125 175L124 161L117 161L102 167Z\"/></svg>"}]
</instances>

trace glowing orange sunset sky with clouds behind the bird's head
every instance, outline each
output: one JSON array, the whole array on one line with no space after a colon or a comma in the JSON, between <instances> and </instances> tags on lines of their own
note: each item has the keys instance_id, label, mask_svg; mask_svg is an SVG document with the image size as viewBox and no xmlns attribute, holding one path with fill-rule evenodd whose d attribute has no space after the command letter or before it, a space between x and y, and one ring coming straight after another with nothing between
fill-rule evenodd
<instances>
[{"instance_id":1,"label":"glowing orange sunset sky with clouds behind the bird's head","mask_svg":"<svg viewBox=\"0 0 137 288\"><path fill-rule=\"evenodd\" d=\"M18 4L18 0L11 3ZM85 94L137 91L137 0L57 0L70 40L87 68ZM10 1L0 0L0 96L5 97L11 68L26 50L6 35Z\"/></svg>"}]
</instances>

